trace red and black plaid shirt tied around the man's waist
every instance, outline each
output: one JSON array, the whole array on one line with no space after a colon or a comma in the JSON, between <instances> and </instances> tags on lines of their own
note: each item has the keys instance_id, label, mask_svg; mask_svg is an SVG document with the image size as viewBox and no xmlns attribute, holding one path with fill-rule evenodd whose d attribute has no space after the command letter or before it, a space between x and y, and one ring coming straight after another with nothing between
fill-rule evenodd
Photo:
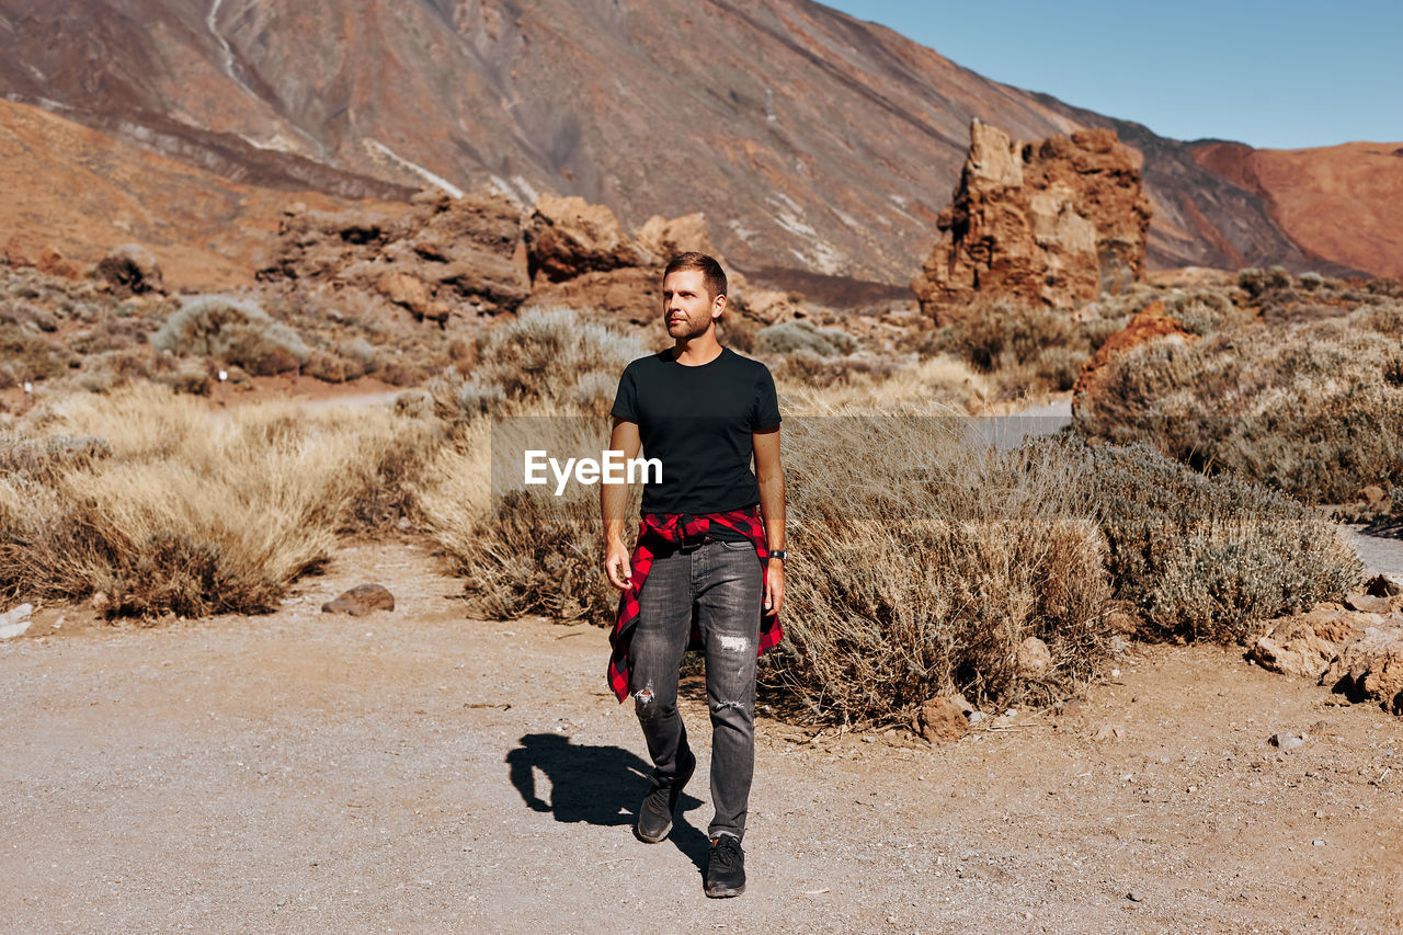
<instances>
[{"instance_id":1,"label":"red and black plaid shirt tied around the man's waist","mask_svg":"<svg viewBox=\"0 0 1403 935\"><path fill-rule=\"evenodd\" d=\"M613 647L609 654L609 688L613 689L620 702L629 698L629 674L631 671L629 644L633 642L633 628L638 623L638 591L643 590L643 581L648 577L652 559L661 550L659 546L700 543L713 524L734 529L755 543L755 553L765 569L762 580L769 580L769 562L766 559L770 550L765 542L765 524L758 508L706 512L699 517L679 512L645 512L638 525L638 545L634 546L633 556L629 559L633 566L633 577L629 580L629 590L619 595L619 616L609 635L609 646ZM784 639L784 628L780 626L779 612L766 614L762 605L760 642L756 656L779 646L781 639ZM696 623L692 625L692 639L687 649L702 649L702 632Z\"/></svg>"}]
</instances>

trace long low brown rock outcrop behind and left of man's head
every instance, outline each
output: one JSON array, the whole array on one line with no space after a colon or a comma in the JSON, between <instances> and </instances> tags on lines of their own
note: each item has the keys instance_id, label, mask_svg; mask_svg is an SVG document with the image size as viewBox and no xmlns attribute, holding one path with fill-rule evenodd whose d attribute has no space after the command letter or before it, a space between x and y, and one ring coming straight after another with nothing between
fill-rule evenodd
<instances>
[{"instance_id":1,"label":"long low brown rock outcrop behind and left of man's head","mask_svg":"<svg viewBox=\"0 0 1403 935\"><path fill-rule=\"evenodd\" d=\"M419 192L410 211L283 213L278 244L260 271L293 288L352 289L383 309L446 327L536 307L593 310L620 324L658 320L662 267L675 253L716 253L700 213L650 218L630 237L605 205L542 195L526 215L491 192ZM777 293L742 293L776 305ZM783 298L783 296L779 296Z\"/></svg>"}]
</instances>

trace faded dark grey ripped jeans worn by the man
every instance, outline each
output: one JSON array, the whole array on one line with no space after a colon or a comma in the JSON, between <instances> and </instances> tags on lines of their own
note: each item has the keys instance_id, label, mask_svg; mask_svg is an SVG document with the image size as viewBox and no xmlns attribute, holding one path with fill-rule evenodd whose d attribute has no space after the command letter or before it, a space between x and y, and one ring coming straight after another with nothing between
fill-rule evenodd
<instances>
[{"instance_id":1,"label":"faded dark grey ripped jeans worn by the man","mask_svg":"<svg viewBox=\"0 0 1403 935\"><path fill-rule=\"evenodd\" d=\"M749 542L709 539L659 555L638 594L630 644L630 691L652 757L654 788L668 785L689 757L678 713L678 670L693 614L706 642L711 709L711 804L707 837L745 837L755 774L755 663L763 576Z\"/></svg>"}]
</instances>

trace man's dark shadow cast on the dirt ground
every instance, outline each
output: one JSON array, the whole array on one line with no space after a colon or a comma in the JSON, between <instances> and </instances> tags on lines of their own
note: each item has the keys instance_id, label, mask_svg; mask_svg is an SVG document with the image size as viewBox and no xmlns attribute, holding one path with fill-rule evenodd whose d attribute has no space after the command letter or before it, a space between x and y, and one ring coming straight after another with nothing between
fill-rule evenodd
<instances>
[{"instance_id":1,"label":"man's dark shadow cast on the dirt ground","mask_svg":"<svg viewBox=\"0 0 1403 935\"><path fill-rule=\"evenodd\" d=\"M651 764L622 747L578 745L561 734L526 734L519 743L506 754L506 767L529 809L565 823L631 828L637 821ZM550 781L549 802L536 788L537 771ZM704 872L710 842L686 820L686 813L700 804L700 799L682 795L680 814L668 840Z\"/></svg>"}]
</instances>

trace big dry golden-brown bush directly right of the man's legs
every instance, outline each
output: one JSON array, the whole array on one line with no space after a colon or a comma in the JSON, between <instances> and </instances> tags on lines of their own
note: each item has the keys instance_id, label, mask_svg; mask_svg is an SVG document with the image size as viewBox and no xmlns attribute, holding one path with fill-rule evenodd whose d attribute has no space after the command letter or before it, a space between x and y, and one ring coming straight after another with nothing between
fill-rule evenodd
<instances>
[{"instance_id":1,"label":"big dry golden-brown bush directly right of the man's legs","mask_svg":"<svg viewBox=\"0 0 1403 935\"><path fill-rule=\"evenodd\" d=\"M950 691L1045 702L1103 661L1101 542L1063 465L971 445L968 425L786 424L787 639L762 679L810 716L899 722ZM1016 670L1030 636L1054 658L1035 679Z\"/></svg>"}]
</instances>

